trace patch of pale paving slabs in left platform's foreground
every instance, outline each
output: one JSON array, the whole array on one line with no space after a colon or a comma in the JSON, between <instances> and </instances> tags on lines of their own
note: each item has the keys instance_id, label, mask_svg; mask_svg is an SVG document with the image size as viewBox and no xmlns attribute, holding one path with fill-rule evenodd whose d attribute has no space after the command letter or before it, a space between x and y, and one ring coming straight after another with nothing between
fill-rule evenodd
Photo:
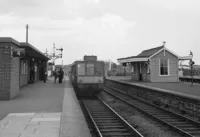
<instances>
[{"instance_id":1,"label":"patch of pale paving slabs in left platform's foreground","mask_svg":"<svg viewBox=\"0 0 200 137\"><path fill-rule=\"evenodd\" d=\"M37 116L48 116L46 118L36 118ZM14 116L11 118L10 116ZM27 117L28 116L28 117ZM52 116L52 117L51 117ZM8 118L9 117L9 118ZM33 118L35 117L35 118ZM2 120L0 137L58 137L60 128L60 114L41 113L30 114L10 114ZM8 122L9 120L9 122ZM32 121L33 120L33 121ZM4 122L4 123L3 123Z\"/></svg>"}]
</instances>

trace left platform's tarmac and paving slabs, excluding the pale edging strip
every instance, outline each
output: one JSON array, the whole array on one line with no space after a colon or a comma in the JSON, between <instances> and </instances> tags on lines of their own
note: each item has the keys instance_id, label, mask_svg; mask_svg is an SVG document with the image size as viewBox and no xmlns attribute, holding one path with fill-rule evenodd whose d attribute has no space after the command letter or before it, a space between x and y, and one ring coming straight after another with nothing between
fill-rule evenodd
<instances>
[{"instance_id":1,"label":"left platform's tarmac and paving slabs, excluding the pale edging strip","mask_svg":"<svg viewBox=\"0 0 200 137\"><path fill-rule=\"evenodd\" d=\"M37 82L0 101L0 137L59 137L66 83Z\"/></svg>"}]
</instances>

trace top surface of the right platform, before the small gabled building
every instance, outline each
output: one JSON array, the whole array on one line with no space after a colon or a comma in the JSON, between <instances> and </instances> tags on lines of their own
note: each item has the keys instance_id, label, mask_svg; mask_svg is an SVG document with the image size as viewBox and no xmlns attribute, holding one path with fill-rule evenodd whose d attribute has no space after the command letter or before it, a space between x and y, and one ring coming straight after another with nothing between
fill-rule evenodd
<instances>
[{"instance_id":1,"label":"top surface of the right platform, before the small gabled building","mask_svg":"<svg viewBox=\"0 0 200 137\"><path fill-rule=\"evenodd\" d=\"M169 92L177 92L180 94L184 94L186 96L193 96L195 98L200 99L200 85L194 84L191 86L191 83L169 83L169 82L140 82L140 81L133 81L131 80L130 76L123 77L123 76L111 76L107 77L108 79L117 80L127 82L133 85L138 85L142 87L154 88L154 89L163 89Z\"/></svg>"}]
</instances>

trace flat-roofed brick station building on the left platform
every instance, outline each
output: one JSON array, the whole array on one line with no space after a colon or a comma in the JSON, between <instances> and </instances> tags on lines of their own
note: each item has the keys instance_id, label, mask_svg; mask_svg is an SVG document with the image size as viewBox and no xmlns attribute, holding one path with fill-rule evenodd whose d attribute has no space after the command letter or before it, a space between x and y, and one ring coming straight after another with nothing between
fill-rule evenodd
<instances>
[{"instance_id":1,"label":"flat-roofed brick station building on the left platform","mask_svg":"<svg viewBox=\"0 0 200 137\"><path fill-rule=\"evenodd\" d=\"M23 58L12 57L12 49L18 48L25 49ZM0 100L12 99L17 96L21 87L43 80L48 60L48 57L29 43L0 37Z\"/></svg>"}]
</instances>

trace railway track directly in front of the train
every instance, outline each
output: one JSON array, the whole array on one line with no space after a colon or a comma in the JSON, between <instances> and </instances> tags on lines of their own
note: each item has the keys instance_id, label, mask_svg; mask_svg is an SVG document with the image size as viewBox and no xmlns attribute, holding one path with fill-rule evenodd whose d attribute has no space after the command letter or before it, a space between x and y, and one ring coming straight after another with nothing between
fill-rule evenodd
<instances>
[{"instance_id":1,"label":"railway track directly in front of the train","mask_svg":"<svg viewBox=\"0 0 200 137\"><path fill-rule=\"evenodd\" d=\"M100 99L83 99L82 103L99 137L143 137Z\"/></svg>"}]
</instances>

